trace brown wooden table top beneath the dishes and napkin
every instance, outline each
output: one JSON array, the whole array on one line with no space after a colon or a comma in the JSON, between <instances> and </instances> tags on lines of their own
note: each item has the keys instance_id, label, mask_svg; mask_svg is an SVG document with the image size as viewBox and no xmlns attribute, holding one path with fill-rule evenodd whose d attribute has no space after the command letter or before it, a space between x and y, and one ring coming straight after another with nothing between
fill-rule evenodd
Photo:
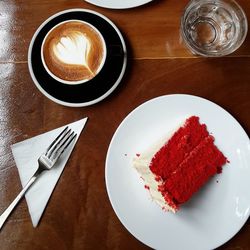
<instances>
[{"instance_id":1,"label":"brown wooden table top beneath the dishes and napkin","mask_svg":"<svg viewBox=\"0 0 250 250\"><path fill-rule=\"evenodd\" d=\"M151 98L174 93L207 98L228 110L250 133L250 36L231 56L193 56L179 35L187 2L154 0L134 9L109 10L80 0L0 1L0 211L21 190L11 144L89 117L39 227L32 227L23 200L0 233L0 249L148 249L116 217L104 169L116 128ZM239 3L250 18L250 2ZM119 27L128 47L123 81L111 96L90 107L53 103L38 91L28 72L33 33L49 16L69 8L106 15ZM249 250L250 222L220 249Z\"/></svg>"}]
</instances>

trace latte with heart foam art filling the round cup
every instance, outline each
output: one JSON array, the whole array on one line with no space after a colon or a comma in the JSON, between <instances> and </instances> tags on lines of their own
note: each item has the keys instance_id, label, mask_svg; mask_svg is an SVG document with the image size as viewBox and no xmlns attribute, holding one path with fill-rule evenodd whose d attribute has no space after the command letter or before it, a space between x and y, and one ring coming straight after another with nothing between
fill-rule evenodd
<instances>
[{"instance_id":1,"label":"latte with heart foam art filling the round cup","mask_svg":"<svg viewBox=\"0 0 250 250\"><path fill-rule=\"evenodd\" d=\"M101 70L106 47L102 35L82 21L66 21L45 37L41 51L47 72L63 83L81 83Z\"/></svg>"}]
</instances>

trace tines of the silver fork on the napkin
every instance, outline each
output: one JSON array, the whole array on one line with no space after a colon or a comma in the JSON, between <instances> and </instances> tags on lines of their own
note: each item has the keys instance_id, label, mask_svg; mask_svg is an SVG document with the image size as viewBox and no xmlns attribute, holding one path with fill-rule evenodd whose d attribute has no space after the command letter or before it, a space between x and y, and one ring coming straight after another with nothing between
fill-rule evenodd
<instances>
[{"instance_id":1,"label":"tines of the silver fork on the napkin","mask_svg":"<svg viewBox=\"0 0 250 250\"><path fill-rule=\"evenodd\" d=\"M65 149L75 139L76 133L67 126L48 147L45 156L54 161L65 151Z\"/></svg>"}]
</instances>

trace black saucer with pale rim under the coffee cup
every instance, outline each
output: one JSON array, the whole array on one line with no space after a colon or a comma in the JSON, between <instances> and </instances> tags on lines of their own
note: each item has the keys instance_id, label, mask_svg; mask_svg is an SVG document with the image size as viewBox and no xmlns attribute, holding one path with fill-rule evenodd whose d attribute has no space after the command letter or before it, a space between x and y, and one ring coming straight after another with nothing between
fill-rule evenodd
<instances>
[{"instance_id":1,"label":"black saucer with pale rim under the coffee cup","mask_svg":"<svg viewBox=\"0 0 250 250\"><path fill-rule=\"evenodd\" d=\"M41 45L49 30L66 20L81 20L95 26L103 35L107 57L102 70L82 84L63 84L52 78L41 60ZM28 52L31 77L38 89L52 101L70 107L95 104L106 98L120 83L127 65L126 45L118 28L105 16L86 9L70 9L47 19L35 32Z\"/></svg>"}]
</instances>

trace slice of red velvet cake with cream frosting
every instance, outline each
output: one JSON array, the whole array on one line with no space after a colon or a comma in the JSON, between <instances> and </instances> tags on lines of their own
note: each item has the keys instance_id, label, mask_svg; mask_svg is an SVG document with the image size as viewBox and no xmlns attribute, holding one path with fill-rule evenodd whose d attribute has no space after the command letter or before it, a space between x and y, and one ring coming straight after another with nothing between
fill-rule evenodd
<instances>
[{"instance_id":1,"label":"slice of red velvet cake with cream frosting","mask_svg":"<svg viewBox=\"0 0 250 250\"><path fill-rule=\"evenodd\" d=\"M212 176L221 173L227 158L214 140L199 117L192 116L170 138L134 159L145 187L164 209L177 211Z\"/></svg>"}]
</instances>

